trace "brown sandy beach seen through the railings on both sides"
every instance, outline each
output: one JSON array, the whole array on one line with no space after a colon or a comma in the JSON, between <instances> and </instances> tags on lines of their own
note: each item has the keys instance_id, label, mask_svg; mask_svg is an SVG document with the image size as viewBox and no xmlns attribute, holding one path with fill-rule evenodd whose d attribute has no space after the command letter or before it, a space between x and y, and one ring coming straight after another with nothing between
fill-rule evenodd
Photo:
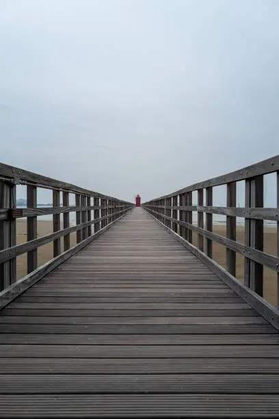
<instances>
[{"instance_id":1,"label":"brown sandy beach seen through the railings on both sides","mask_svg":"<svg viewBox=\"0 0 279 419\"><path fill-rule=\"evenodd\" d=\"M26 220L18 219L16 222L17 243L21 244L27 241L27 223ZM226 225L213 225L213 231L221 236L226 236ZM38 220L38 237L46 236L53 232L51 221ZM237 226L237 241L244 243L244 226ZM193 233L193 242L196 244L196 234ZM70 234L70 246L77 243L76 233ZM61 249L63 251L63 239L61 240ZM276 228L265 227L264 229L264 251L271 255L276 255ZM53 243L44 244L38 248L38 266L46 263L53 257ZM226 267L226 248L222 244L213 242L213 259L220 265ZM17 278L20 279L27 274L27 255L17 257ZM237 278L243 282L244 257L237 255ZM276 305L277 294L277 275L269 268L263 268L264 283L263 294L269 303Z\"/></svg>"}]
</instances>

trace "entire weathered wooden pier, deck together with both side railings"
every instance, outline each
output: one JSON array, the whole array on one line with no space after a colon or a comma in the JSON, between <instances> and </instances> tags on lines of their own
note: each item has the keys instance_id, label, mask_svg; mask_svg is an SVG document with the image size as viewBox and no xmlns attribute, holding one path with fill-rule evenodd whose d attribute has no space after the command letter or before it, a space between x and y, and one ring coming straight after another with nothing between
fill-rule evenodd
<instances>
[{"instance_id":1,"label":"entire weathered wooden pier, deck together with both side railings","mask_svg":"<svg viewBox=\"0 0 279 419\"><path fill-rule=\"evenodd\" d=\"M278 208L263 207L263 175L278 170L276 156L135 207L1 164L0 417L278 417L279 312L262 296L263 266L279 271L278 256L263 252L263 220L279 220ZM18 183L26 209L14 204ZM227 206L213 207L220 184ZM53 190L51 208L36 207L42 186ZM53 233L37 238L41 214L53 214ZM226 238L213 233L212 214L226 215ZM28 240L16 244L25 216ZM51 241L54 257L38 267L38 246ZM212 259L213 241L226 246L227 269ZM16 281L23 253L29 272Z\"/></svg>"}]
</instances>

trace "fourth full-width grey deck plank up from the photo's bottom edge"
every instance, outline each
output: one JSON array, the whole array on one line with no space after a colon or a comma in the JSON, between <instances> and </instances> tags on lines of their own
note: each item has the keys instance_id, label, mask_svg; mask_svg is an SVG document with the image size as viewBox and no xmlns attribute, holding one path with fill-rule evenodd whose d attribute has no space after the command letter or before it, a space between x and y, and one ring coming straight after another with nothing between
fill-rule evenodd
<instances>
[{"instance_id":1,"label":"fourth full-width grey deck plank up from the photo's bottom edge","mask_svg":"<svg viewBox=\"0 0 279 419\"><path fill-rule=\"evenodd\" d=\"M0 345L0 358L277 358L277 345Z\"/></svg>"}]
</instances>

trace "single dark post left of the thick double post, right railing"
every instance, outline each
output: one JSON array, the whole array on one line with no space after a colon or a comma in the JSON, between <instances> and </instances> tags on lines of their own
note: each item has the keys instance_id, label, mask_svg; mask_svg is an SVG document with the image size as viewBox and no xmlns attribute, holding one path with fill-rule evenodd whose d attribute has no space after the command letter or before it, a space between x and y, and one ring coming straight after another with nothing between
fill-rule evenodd
<instances>
[{"instance_id":1,"label":"single dark post left of the thick double post, right railing","mask_svg":"<svg viewBox=\"0 0 279 419\"><path fill-rule=\"evenodd\" d=\"M227 207L237 206L237 183L227 183ZM237 219L233 216L226 217L226 236L230 240L237 239ZM231 249L226 249L226 268L235 277L236 254Z\"/></svg>"}]
</instances>

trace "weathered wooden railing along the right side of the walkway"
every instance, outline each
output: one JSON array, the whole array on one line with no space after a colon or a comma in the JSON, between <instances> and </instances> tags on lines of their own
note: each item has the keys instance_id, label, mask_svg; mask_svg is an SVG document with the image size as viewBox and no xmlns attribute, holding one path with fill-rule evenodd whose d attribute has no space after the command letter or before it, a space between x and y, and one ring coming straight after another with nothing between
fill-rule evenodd
<instances>
[{"instance_id":1,"label":"weathered wooden railing along the right side of the walkway","mask_svg":"<svg viewBox=\"0 0 279 419\"><path fill-rule=\"evenodd\" d=\"M277 173L277 207L263 205L263 176ZM237 207L237 182L245 180L245 207ZM226 185L226 207L213 206L213 187ZM205 205L204 205L205 190ZM192 205L192 193L198 191L198 205ZM227 175L196 183L171 194L160 196L143 204L143 207L163 225L177 233L188 248L203 260L212 258L213 242L226 246L226 271L235 277L236 253L245 257L244 283L250 290L263 296L263 266L279 272L279 155L269 160L245 167ZM192 213L198 213L198 223L193 224ZM204 213L206 214L204 226ZM226 216L226 237L213 233L213 214ZM236 241L236 217L245 218L245 244ZM263 251L263 221L277 222L277 257ZM198 235L193 246L192 232ZM204 246L205 238L205 246ZM220 272L221 272L220 267ZM224 270L222 270L224 274ZM278 277L279 282L279 277ZM279 303L279 285L277 284Z\"/></svg>"}]
</instances>

